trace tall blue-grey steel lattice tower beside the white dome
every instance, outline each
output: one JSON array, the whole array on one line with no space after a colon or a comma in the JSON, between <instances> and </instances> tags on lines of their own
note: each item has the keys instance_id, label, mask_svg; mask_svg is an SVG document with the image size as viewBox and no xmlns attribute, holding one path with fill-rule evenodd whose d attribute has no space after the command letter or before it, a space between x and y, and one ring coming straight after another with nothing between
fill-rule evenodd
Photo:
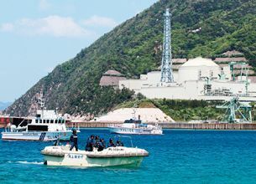
<instances>
[{"instance_id":1,"label":"tall blue-grey steel lattice tower beside the white dome","mask_svg":"<svg viewBox=\"0 0 256 184\"><path fill-rule=\"evenodd\" d=\"M172 83L174 82L172 74L172 61L171 61L171 28L170 28L170 9L167 8L164 14L164 43L163 43L163 55L162 55L162 67L161 67L161 82Z\"/></svg>"}]
</instances>

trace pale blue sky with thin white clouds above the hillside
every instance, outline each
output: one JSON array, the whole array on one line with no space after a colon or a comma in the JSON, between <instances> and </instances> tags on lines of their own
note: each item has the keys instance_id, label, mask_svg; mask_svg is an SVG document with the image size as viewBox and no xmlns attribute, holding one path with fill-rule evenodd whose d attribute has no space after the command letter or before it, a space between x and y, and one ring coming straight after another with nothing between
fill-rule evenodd
<instances>
[{"instance_id":1,"label":"pale blue sky with thin white clouds above the hillside","mask_svg":"<svg viewBox=\"0 0 256 184\"><path fill-rule=\"evenodd\" d=\"M57 64L157 0L0 0L0 101L14 101Z\"/></svg>"}]
</instances>

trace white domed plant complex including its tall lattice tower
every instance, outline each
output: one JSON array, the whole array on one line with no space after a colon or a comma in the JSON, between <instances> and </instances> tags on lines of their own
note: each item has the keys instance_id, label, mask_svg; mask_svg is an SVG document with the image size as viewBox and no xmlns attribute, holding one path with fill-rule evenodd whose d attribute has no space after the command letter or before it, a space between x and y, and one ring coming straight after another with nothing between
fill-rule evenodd
<instances>
[{"instance_id":1,"label":"white domed plant complex including its tall lattice tower","mask_svg":"<svg viewBox=\"0 0 256 184\"><path fill-rule=\"evenodd\" d=\"M140 79L121 79L119 89L132 89L149 99L231 100L239 96L240 100L256 101L256 83L248 77L253 71L238 51L227 51L214 60L172 59L169 9L164 16L161 71L141 74Z\"/></svg>"}]
</instances>

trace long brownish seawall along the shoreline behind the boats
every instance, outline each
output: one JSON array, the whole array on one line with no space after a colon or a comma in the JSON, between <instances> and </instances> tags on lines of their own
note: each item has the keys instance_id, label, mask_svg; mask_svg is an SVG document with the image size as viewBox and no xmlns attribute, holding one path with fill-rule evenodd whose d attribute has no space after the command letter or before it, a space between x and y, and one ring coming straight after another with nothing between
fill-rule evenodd
<instances>
[{"instance_id":1,"label":"long brownish seawall along the shoreline behind the boats","mask_svg":"<svg viewBox=\"0 0 256 184\"><path fill-rule=\"evenodd\" d=\"M150 124L150 123L148 123ZM81 128L106 128L109 125L117 126L122 123L110 122L79 122ZM159 123L164 129L194 129L194 130L256 130L256 123L234 124L234 123Z\"/></svg>"}]
</instances>

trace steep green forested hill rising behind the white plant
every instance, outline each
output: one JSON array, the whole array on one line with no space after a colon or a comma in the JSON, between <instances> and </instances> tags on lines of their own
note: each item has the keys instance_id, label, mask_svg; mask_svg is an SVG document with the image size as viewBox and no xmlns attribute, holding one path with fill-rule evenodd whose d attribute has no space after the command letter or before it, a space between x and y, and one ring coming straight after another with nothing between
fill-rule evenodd
<instances>
[{"instance_id":1,"label":"steep green forested hill rising behind the white plant","mask_svg":"<svg viewBox=\"0 0 256 184\"><path fill-rule=\"evenodd\" d=\"M173 15L174 58L212 57L235 49L256 66L256 0L162 0L58 65L7 113L28 115L34 95L41 89L48 108L58 107L73 115L101 114L129 100L132 94L128 90L101 88L99 80L107 69L136 78L160 65L165 8ZM197 28L201 31L193 33Z\"/></svg>"}]
</instances>

